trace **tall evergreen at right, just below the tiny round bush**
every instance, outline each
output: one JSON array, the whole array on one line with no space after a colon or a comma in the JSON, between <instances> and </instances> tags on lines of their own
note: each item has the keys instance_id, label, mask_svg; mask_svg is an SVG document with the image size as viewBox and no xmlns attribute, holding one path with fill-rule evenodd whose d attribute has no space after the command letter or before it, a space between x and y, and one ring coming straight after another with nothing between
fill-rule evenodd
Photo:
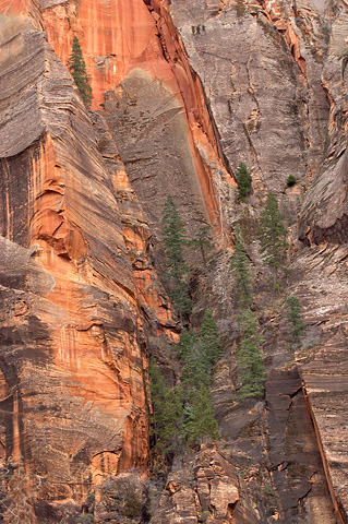
<instances>
[{"instance_id":1,"label":"tall evergreen at right, just below the tiny round bush","mask_svg":"<svg viewBox=\"0 0 348 524\"><path fill-rule=\"evenodd\" d=\"M266 264L277 271L286 261L288 242L287 229L283 224L279 205L272 191L267 194L266 204L261 213L259 225L260 252Z\"/></svg>"}]
</instances>

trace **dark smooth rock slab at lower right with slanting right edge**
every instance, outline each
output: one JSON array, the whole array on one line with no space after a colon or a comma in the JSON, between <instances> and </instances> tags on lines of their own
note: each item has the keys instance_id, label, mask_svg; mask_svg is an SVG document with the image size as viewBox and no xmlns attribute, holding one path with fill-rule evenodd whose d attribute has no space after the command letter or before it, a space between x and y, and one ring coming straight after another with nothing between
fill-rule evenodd
<instances>
[{"instance_id":1,"label":"dark smooth rock slab at lower right with slanting right edge","mask_svg":"<svg viewBox=\"0 0 348 524\"><path fill-rule=\"evenodd\" d=\"M266 384L271 476L284 522L337 522L297 368Z\"/></svg>"}]
</instances>

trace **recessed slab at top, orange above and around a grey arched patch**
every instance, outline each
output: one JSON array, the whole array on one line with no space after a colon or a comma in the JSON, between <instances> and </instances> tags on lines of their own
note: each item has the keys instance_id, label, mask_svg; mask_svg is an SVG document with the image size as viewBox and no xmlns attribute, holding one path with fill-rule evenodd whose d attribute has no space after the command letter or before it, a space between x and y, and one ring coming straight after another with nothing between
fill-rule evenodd
<instances>
[{"instance_id":1,"label":"recessed slab at top, orange above and around a grey arched patch","mask_svg":"<svg viewBox=\"0 0 348 524\"><path fill-rule=\"evenodd\" d=\"M233 182L201 81L165 7L143 0L84 0L79 10L73 1L43 8L49 41L63 63L74 32L81 36L93 107L103 103L152 230L158 234L170 191L190 230L207 222L220 230L214 176Z\"/></svg>"}]
</instances>

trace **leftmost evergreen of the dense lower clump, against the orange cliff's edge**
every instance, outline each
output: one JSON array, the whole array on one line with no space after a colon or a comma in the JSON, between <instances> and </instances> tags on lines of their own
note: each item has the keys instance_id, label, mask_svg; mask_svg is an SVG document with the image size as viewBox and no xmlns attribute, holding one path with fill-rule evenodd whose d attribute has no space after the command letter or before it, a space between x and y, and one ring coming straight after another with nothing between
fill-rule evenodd
<instances>
[{"instance_id":1,"label":"leftmost evergreen of the dense lower clump, against the orange cliff's edge","mask_svg":"<svg viewBox=\"0 0 348 524\"><path fill-rule=\"evenodd\" d=\"M181 388L179 385L167 388L158 366L152 358L148 370L154 412L152 421L155 448L161 453L178 451L181 445L183 422Z\"/></svg>"}]
</instances>

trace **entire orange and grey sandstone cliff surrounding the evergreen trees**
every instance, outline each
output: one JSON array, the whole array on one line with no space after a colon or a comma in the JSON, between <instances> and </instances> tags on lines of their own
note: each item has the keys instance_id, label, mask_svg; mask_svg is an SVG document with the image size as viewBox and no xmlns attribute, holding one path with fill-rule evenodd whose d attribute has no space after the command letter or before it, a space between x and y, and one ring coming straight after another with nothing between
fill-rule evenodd
<instances>
[{"instance_id":1,"label":"entire orange and grey sandstone cliff surrounding the evergreen trees","mask_svg":"<svg viewBox=\"0 0 348 524\"><path fill-rule=\"evenodd\" d=\"M95 522L348 522L347 9L1 3L1 460L24 464L33 522L74 523L88 493ZM65 69L74 35L92 111ZM271 189L291 235L286 293L307 324L296 355L253 236ZM158 273L168 192L192 236L214 228L208 264L189 262L193 325L209 305L226 346L213 386L224 441L178 458L152 507L148 352L175 380L179 333ZM256 405L238 403L233 382L228 252L241 221L268 370Z\"/></svg>"}]
</instances>

